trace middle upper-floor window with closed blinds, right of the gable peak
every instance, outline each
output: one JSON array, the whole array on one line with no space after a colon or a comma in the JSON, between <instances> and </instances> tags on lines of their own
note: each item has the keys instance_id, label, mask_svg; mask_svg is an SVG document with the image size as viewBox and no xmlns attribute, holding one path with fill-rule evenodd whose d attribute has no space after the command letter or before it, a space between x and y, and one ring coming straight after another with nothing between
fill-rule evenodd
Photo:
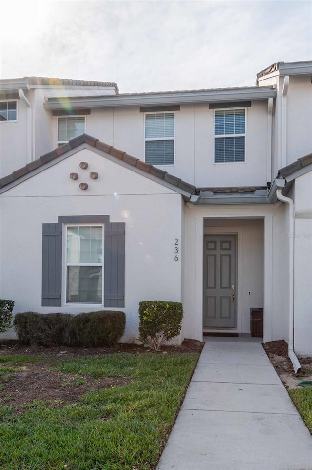
<instances>
[{"instance_id":1,"label":"middle upper-floor window with closed blinds, right of the gable peak","mask_svg":"<svg viewBox=\"0 0 312 470\"><path fill-rule=\"evenodd\" d=\"M150 165L173 165L175 113L145 115L145 161Z\"/></svg>"}]
</instances>

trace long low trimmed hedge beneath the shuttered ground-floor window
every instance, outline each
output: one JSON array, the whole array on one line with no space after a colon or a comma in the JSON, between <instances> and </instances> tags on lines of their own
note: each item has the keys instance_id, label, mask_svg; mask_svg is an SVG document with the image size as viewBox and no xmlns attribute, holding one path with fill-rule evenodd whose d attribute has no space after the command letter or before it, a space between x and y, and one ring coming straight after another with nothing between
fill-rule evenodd
<instances>
[{"instance_id":1,"label":"long low trimmed hedge beneath the shuttered ground-floor window","mask_svg":"<svg viewBox=\"0 0 312 470\"><path fill-rule=\"evenodd\" d=\"M37 346L112 346L123 335L124 312L17 313L14 329L20 343Z\"/></svg>"}]
</instances>

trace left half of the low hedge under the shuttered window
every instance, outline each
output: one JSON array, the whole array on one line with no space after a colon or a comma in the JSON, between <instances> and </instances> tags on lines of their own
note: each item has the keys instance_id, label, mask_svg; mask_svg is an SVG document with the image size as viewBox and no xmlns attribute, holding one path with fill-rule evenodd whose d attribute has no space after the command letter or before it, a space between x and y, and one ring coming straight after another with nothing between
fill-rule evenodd
<instances>
[{"instance_id":1,"label":"left half of the low hedge under the shuttered window","mask_svg":"<svg viewBox=\"0 0 312 470\"><path fill-rule=\"evenodd\" d=\"M14 329L20 343L38 346L67 344L72 316L66 313L17 313Z\"/></svg>"}]
</instances>

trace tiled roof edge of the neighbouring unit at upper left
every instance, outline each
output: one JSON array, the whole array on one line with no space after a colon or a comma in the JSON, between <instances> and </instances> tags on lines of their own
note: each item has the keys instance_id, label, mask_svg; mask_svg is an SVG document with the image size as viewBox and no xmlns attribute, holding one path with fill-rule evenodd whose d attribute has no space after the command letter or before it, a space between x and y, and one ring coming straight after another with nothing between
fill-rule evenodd
<instances>
[{"instance_id":1,"label":"tiled roof edge of the neighbouring unit at upper left","mask_svg":"<svg viewBox=\"0 0 312 470\"><path fill-rule=\"evenodd\" d=\"M0 88L6 89L28 88L27 85L50 85L50 86L95 86L95 87L112 87L119 93L118 85L115 82L101 82L90 80L73 80L66 78L49 78L49 77L22 77L13 79L0 80Z\"/></svg>"}]
</instances>

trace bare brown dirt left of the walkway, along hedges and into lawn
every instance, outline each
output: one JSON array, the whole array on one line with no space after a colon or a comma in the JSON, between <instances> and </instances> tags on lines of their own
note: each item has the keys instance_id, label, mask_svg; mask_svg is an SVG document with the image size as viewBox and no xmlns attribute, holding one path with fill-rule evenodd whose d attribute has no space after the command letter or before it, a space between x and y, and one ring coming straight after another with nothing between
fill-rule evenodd
<instances>
[{"instance_id":1,"label":"bare brown dirt left of the walkway, along hedges and into lawn","mask_svg":"<svg viewBox=\"0 0 312 470\"><path fill-rule=\"evenodd\" d=\"M103 356L106 354L180 354L186 352L200 352L203 343L195 340L185 340L181 346L163 346L158 352L148 347L136 344L117 344L105 348L78 348L78 347L43 347L23 346L16 340L1 343L2 356L11 354L38 355L43 358L54 359L59 357ZM15 367L9 363L10 367ZM19 366L21 364L18 364ZM23 364L24 370L17 370L10 380L2 381L2 403L11 406L17 412L27 409L27 404L34 400L46 400L50 407L61 407L68 403L75 403L93 390L114 386L127 385L131 379L124 377L91 377L69 374L49 370L43 360L38 363Z\"/></svg>"}]
</instances>

